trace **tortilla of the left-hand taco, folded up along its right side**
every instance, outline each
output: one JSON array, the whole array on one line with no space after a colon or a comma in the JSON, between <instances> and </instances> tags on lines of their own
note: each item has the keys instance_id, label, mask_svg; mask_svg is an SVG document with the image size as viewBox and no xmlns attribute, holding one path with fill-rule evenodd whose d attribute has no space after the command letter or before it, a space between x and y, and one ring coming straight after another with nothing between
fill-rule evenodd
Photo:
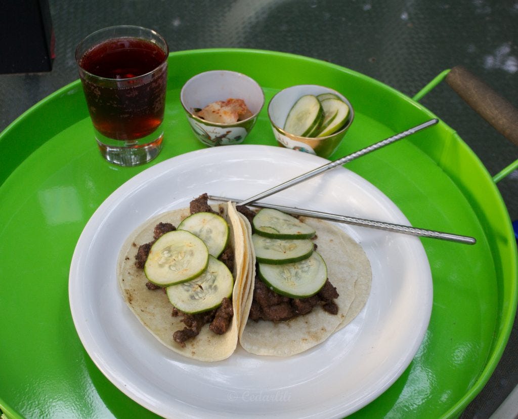
<instances>
[{"instance_id":1,"label":"tortilla of the left-hand taco, folded up along its right side","mask_svg":"<svg viewBox=\"0 0 518 419\"><path fill-rule=\"evenodd\" d=\"M122 297L128 307L137 316L140 323L167 348L189 358L201 361L217 361L232 355L238 342L238 332L240 317L242 316L241 291L243 281L247 284L250 280L243 275L249 274L248 252L244 251L244 234L240 219L235 208L230 204L212 206L219 212L223 209L223 218L226 219L230 237L229 244L234 250L234 291L232 294L234 316L232 324L225 334L216 335L209 330L206 324L199 335L185 342L185 347L174 341L173 334L176 330L184 328L182 316L171 316L173 306L169 302L167 295L162 290L150 291L146 287L146 278L143 269L135 267L135 255L141 244L149 243L153 240L154 226L159 222L171 223L175 227L189 216L189 209L179 209L169 211L148 220L139 226L126 240L117 264L117 278L122 292ZM243 260L247 260L247 265L243 265ZM248 316L248 313L247 313Z\"/></svg>"}]
</instances>

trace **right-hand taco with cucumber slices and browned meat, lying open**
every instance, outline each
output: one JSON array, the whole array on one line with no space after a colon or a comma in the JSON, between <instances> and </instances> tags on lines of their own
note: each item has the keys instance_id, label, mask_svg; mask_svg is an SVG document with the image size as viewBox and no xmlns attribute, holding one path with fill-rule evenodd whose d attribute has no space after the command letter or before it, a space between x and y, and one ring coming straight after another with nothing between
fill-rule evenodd
<instances>
[{"instance_id":1,"label":"right-hand taco with cucumber slices and browned meat, lying open","mask_svg":"<svg viewBox=\"0 0 518 419\"><path fill-rule=\"evenodd\" d=\"M239 342L257 355L290 356L323 342L365 306L371 267L361 245L332 223L271 209L247 215L253 281Z\"/></svg>"}]
</instances>

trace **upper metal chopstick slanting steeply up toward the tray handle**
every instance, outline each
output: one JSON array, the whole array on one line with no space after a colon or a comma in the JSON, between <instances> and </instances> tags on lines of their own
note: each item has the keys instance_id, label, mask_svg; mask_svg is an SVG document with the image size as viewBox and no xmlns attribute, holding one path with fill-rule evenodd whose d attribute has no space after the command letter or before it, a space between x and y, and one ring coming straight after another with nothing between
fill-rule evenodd
<instances>
[{"instance_id":1,"label":"upper metal chopstick slanting steeply up toward the tray handle","mask_svg":"<svg viewBox=\"0 0 518 419\"><path fill-rule=\"evenodd\" d=\"M280 185L274 186L274 187L268 189L267 191L261 192L260 194L254 195L247 199L244 199L240 203L238 203L238 205L248 205L252 202L258 201L262 198L275 194L276 192L282 191L282 190L286 189L287 187L295 185L296 183L303 182L309 178L312 178L313 176L319 175L326 170L334 169L337 166L341 166L342 164L349 163L350 161L354 160L355 158L361 157L367 153L370 153L371 151L375 151L382 147L388 146L389 144L392 144L393 142L396 142L396 141L400 140L401 138L408 137L409 135L414 134L418 131L421 131L421 129L434 125L437 122L439 122L437 119L431 119L420 125L416 125L412 128L407 129L406 131L404 131L402 133L396 134L392 137L379 141L379 142L373 144L372 146L366 147L362 150L356 151L355 153L352 153L345 157L339 158L338 160L335 160L334 162L327 163L323 166L317 167L316 169L308 171L303 175L297 176L296 178L293 178L284 183L281 183Z\"/></svg>"}]
</instances>

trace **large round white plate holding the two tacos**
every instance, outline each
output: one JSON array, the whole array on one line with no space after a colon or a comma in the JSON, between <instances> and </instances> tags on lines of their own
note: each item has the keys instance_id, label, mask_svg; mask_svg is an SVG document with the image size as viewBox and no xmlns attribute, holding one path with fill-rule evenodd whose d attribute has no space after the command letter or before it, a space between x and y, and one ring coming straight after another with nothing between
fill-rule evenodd
<instances>
[{"instance_id":1,"label":"large round white plate holding the two tacos","mask_svg":"<svg viewBox=\"0 0 518 419\"><path fill-rule=\"evenodd\" d=\"M378 397L423 340L432 281L420 240L341 224L372 266L363 311L322 344L289 358L238 346L201 363L170 352L143 328L119 292L116 261L132 230L193 197L247 198L327 161L278 147L228 146L157 164L111 194L85 226L70 268L70 308L97 367L122 392L165 417L343 417ZM336 168L282 191L270 203L409 225L376 187Z\"/></svg>"}]
</instances>

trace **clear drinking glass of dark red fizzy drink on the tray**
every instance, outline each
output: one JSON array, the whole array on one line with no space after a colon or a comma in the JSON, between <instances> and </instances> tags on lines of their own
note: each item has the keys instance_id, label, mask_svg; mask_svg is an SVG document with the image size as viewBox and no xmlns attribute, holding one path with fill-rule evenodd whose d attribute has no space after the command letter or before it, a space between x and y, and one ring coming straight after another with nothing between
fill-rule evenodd
<instances>
[{"instance_id":1,"label":"clear drinking glass of dark red fizzy drink on the tray","mask_svg":"<svg viewBox=\"0 0 518 419\"><path fill-rule=\"evenodd\" d=\"M76 49L83 91L100 153L136 166L162 149L167 56L165 39L140 26L111 26Z\"/></svg>"}]
</instances>

